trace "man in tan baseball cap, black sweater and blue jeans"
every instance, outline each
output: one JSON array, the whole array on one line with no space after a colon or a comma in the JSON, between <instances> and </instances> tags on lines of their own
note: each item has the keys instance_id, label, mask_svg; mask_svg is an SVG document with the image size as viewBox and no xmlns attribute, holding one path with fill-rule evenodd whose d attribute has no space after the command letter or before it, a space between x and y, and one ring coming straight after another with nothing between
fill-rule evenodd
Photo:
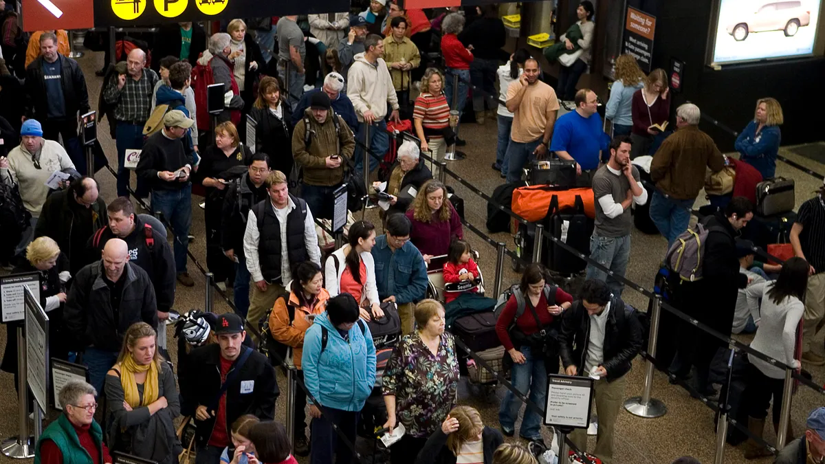
<instances>
[{"instance_id":1,"label":"man in tan baseball cap, black sweater and blue jeans","mask_svg":"<svg viewBox=\"0 0 825 464\"><path fill-rule=\"evenodd\" d=\"M177 282L194 286L186 272L189 229L192 225L192 184L189 176L195 164L194 152L186 149L183 137L195 123L180 110L163 116L163 130L149 135L140 153L137 173L152 192L152 211L160 211L175 234L174 254Z\"/></svg>"}]
</instances>

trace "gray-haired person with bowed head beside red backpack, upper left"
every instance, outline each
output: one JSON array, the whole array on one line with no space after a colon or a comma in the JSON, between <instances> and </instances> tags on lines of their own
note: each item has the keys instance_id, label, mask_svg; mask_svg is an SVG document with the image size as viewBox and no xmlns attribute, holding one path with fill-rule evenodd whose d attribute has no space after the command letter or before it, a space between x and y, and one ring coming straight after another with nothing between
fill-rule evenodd
<instances>
[{"instance_id":1,"label":"gray-haired person with bowed head beside red backpack, upper left","mask_svg":"<svg viewBox=\"0 0 825 464\"><path fill-rule=\"evenodd\" d=\"M225 32L213 34L209 39L209 50L198 59L198 64L209 64L214 83L224 84L224 111L218 115L218 122L232 121L237 127L241 122L243 98L241 98L238 81L235 80L232 54L232 36ZM237 55L234 58L237 58ZM199 128L202 129L202 128Z\"/></svg>"}]
</instances>

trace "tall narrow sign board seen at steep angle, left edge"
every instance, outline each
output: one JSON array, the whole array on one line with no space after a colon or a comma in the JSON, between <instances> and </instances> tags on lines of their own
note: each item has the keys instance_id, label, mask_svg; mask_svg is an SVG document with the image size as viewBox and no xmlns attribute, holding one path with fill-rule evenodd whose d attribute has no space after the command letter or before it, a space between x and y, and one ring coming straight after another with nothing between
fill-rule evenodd
<instances>
[{"instance_id":1,"label":"tall narrow sign board seen at steep angle, left edge","mask_svg":"<svg viewBox=\"0 0 825 464\"><path fill-rule=\"evenodd\" d=\"M49 316L28 287L26 296L26 382L40 410L49 410Z\"/></svg>"}]
</instances>

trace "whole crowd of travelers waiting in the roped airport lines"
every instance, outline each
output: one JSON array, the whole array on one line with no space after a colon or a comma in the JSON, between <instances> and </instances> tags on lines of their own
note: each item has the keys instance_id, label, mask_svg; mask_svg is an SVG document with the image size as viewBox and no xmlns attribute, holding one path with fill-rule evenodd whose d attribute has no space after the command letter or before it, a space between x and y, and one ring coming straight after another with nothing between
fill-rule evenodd
<instances>
[{"instance_id":1,"label":"whole crowd of travelers waiting in the roped airport lines","mask_svg":"<svg viewBox=\"0 0 825 464\"><path fill-rule=\"evenodd\" d=\"M0 110L0 182L19 192L24 218L2 256L11 257L13 272L40 273L51 356L89 373L88 383L60 391L63 413L45 429L36 459L108 464L111 451L173 464L189 445L197 464L289 464L307 455L313 463L333 456L347 463L348 443L378 391L385 422L376 428L404 430L389 447L395 464L532 464L532 452L504 438L517 428L544 447L536 410L526 407L519 423L521 396L544 405L547 376L559 373L594 379L593 455L615 462L626 376L644 339L637 311L621 298L631 210L649 205L668 249L679 246L706 172L737 160L698 128L700 109L691 103L675 108L676 129L668 129L666 73L645 75L627 54L615 61L605 131L596 92L577 90L592 60L592 2L580 2L577 22L544 53L561 64L555 88L528 50L502 52L506 32L496 6L458 10L431 14L372 0L353 15L233 19L212 36L191 22L159 28L151 63L150 50L136 47L122 61L109 57L100 73L97 108L109 121L118 163L117 197L108 202L87 173L76 120L91 106L65 31L39 31L16 50L5 40L14 32L11 16L2 18L2 53L26 96L21 107ZM193 88L206 68L224 92L214 124L201 117L205 102ZM10 89L3 84L0 92ZM559 116L568 104L573 111ZM481 280L460 211L422 156L440 161L448 146L464 143L465 107L479 125L497 121L493 170L508 183L552 152L573 164L576 187L591 188L595 199L592 262L581 288L568 293L544 265L531 263L500 309L495 333L515 390L501 401L497 427L457 405L467 358L448 330L450 304L479 286L447 292L444 301L428 292L441 278L434 273L443 275L440 285ZM332 219L333 192L379 165L374 154L389 149L388 122L410 119L419 143L399 144L385 185L370 185L386 196L381 224L351 221L346 244L324 253L315 223ZM779 102L762 98L736 141L738 162L763 179L775 176L782 120ZM139 160L130 164L135 149ZM55 172L68 177L47 185ZM221 290L233 289L237 313L181 315L173 365L166 322L177 283L195 284L187 260L199 189L206 265ZM150 202L160 220L139 214L130 194ZM825 364L810 348L825 321L823 196L825 185L799 208L790 230L794 257L781 264L756 261L754 244L737 239L756 205L732 196L700 221L707 231L703 278L672 272L668 303L720 333L755 334L753 349L790 367ZM709 294L713 301L705 300ZM369 323L393 315L401 337L387 347ZM692 376L700 395L714 395L709 371L719 340L687 323L670 329L672 362L663 368ZM14 330L7 340L2 369L16 375ZM387 348L392 353L380 362ZM305 386L295 391L291 441L274 420L281 361ZM780 427L784 371L748 357L746 377L752 437L745 457L755 458L767 453L754 438L762 436L771 400ZM103 400L108 411L98 424ZM825 455L823 411L810 415L804 438L792 440L788 431L777 462ZM194 422L191 443L176 433L181 416ZM587 450L583 429L570 438Z\"/></svg>"}]
</instances>

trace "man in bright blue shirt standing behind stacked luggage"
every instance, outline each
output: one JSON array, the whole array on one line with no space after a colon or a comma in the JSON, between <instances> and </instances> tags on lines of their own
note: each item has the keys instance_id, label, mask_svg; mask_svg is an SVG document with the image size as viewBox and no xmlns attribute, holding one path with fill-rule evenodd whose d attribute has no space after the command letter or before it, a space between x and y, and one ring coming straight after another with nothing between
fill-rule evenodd
<instances>
[{"instance_id":1,"label":"man in bright blue shirt standing behind stacked luggage","mask_svg":"<svg viewBox=\"0 0 825 464\"><path fill-rule=\"evenodd\" d=\"M576 162L577 187L591 187L601 152L606 153L610 137L601 128L601 117L596 113L596 92L582 88L576 92L574 102L576 111L556 121L550 151L556 152L560 159Z\"/></svg>"}]
</instances>

